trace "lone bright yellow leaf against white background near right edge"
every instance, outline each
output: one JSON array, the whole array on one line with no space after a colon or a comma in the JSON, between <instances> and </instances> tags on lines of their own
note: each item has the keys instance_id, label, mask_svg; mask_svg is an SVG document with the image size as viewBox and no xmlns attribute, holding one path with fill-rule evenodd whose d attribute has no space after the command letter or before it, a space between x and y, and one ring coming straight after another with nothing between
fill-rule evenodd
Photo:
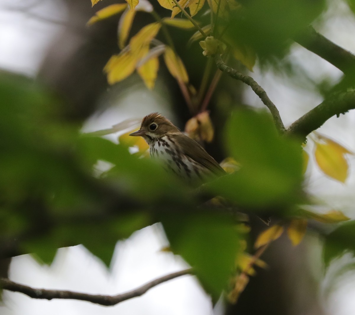
<instances>
[{"instance_id":1,"label":"lone bright yellow leaf against white background near right edge","mask_svg":"<svg viewBox=\"0 0 355 315\"><path fill-rule=\"evenodd\" d=\"M325 144L316 142L316 162L322 172L331 178L345 183L348 178L349 164L344 154L353 154L339 143L321 137Z\"/></svg>"}]
</instances>

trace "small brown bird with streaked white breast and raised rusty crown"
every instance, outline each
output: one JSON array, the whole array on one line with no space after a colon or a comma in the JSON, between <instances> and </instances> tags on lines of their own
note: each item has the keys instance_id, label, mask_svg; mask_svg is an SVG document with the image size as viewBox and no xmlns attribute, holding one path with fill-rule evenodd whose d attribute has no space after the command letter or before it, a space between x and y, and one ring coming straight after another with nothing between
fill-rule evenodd
<instances>
[{"instance_id":1,"label":"small brown bird with streaked white breast and raised rusty crown","mask_svg":"<svg viewBox=\"0 0 355 315\"><path fill-rule=\"evenodd\" d=\"M202 183L225 174L200 144L158 113L145 116L140 130L130 136L143 137L149 145L150 156L162 159L169 170L189 183Z\"/></svg>"}]
</instances>

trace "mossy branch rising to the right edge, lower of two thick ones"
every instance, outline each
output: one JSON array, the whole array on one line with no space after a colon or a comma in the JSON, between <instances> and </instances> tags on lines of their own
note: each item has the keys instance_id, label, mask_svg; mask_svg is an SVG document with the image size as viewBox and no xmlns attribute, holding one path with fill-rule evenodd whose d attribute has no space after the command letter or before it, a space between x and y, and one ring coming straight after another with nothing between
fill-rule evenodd
<instances>
[{"instance_id":1,"label":"mossy branch rising to the right edge, lower of two thick ones","mask_svg":"<svg viewBox=\"0 0 355 315\"><path fill-rule=\"evenodd\" d=\"M297 119L286 131L288 135L306 138L334 115L345 114L355 108L355 91L337 93Z\"/></svg>"}]
</instances>

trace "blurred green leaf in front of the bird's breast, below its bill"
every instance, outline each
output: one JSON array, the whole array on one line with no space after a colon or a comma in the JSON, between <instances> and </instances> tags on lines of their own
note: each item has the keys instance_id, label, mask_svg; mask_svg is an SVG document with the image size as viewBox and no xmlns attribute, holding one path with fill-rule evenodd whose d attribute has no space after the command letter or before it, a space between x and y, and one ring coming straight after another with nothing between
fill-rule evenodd
<instances>
[{"instance_id":1,"label":"blurred green leaf in front of the bird's breast, below its bill","mask_svg":"<svg viewBox=\"0 0 355 315\"><path fill-rule=\"evenodd\" d=\"M160 161L137 158L126 146L99 137L82 137L79 147L91 164L98 160L115 164L105 174L105 180L137 201L149 203L160 198L181 201L190 196L191 190L174 174L167 173Z\"/></svg>"}]
</instances>

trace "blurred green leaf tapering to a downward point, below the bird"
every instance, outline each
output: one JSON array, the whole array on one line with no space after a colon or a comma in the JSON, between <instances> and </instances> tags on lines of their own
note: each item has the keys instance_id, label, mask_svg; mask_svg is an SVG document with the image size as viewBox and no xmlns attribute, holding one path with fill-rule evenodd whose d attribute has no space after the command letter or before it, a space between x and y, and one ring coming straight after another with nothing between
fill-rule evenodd
<instances>
[{"instance_id":1,"label":"blurred green leaf tapering to a downward point, below the bird","mask_svg":"<svg viewBox=\"0 0 355 315\"><path fill-rule=\"evenodd\" d=\"M166 214L162 223L170 248L196 272L216 301L228 286L239 252L240 237L231 219L212 213Z\"/></svg>"}]
</instances>

